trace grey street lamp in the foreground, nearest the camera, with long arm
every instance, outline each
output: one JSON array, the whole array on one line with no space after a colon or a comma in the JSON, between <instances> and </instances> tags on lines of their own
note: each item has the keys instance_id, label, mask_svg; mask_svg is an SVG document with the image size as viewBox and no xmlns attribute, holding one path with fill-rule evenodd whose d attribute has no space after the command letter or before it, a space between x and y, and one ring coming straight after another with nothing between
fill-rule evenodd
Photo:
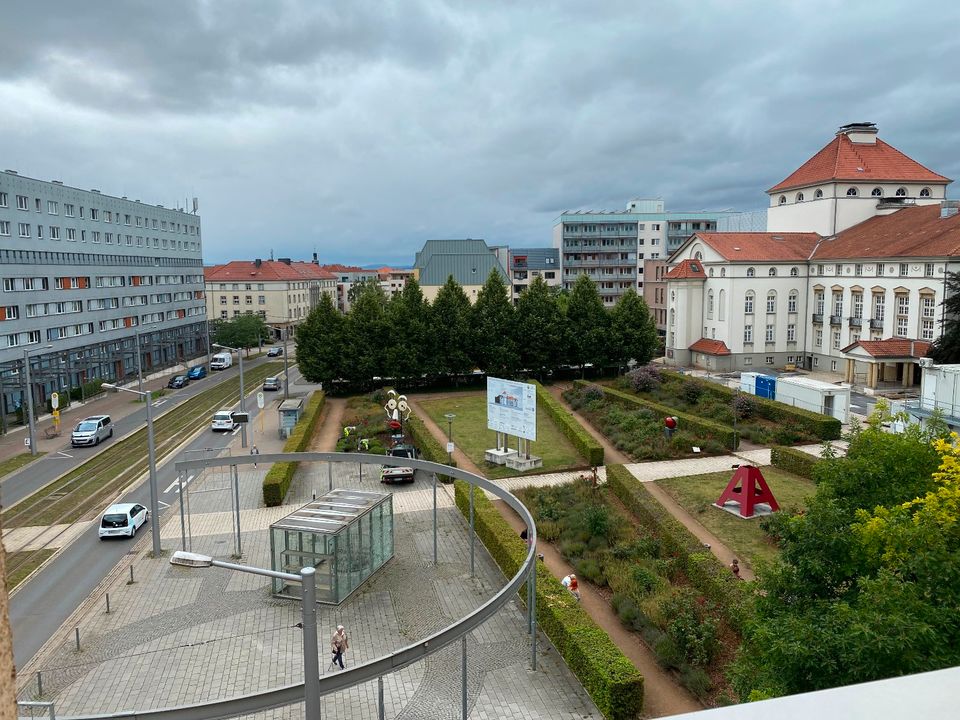
<instances>
[{"instance_id":1,"label":"grey street lamp in the foreground, nearest the camera, with long arm","mask_svg":"<svg viewBox=\"0 0 960 720\"><path fill-rule=\"evenodd\" d=\"M262 575L264 577L299 582L302 592L300 602L301 623L303 625L303 696L304 718L319 720L320 718L320 656L317 642L317 585L314 579L315 570L312 567L300 568L300 573L282 573L266 568L237 565L236 563L214 560L208 555L188 553L177 550L170 558L172 565L184 567L222 567L227 570Z\"/></svg>"}]
</instances>

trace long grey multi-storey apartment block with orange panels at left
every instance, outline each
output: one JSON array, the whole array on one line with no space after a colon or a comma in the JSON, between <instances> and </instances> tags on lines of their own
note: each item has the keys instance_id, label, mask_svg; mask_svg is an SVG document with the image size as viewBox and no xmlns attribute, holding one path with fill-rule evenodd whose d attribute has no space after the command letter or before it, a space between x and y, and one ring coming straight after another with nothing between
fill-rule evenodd
<instances>
[{"instance_id":1,"label":"long grey multi-storey apartment block with orange panels at left","mask_svg":"<svg viewBox=\"0 0 960 720\"><path fill-rule=\"evenodd\" d=\"M199 215L0 173L0 412L206 353Z\"/></svg>"}]
</instances>

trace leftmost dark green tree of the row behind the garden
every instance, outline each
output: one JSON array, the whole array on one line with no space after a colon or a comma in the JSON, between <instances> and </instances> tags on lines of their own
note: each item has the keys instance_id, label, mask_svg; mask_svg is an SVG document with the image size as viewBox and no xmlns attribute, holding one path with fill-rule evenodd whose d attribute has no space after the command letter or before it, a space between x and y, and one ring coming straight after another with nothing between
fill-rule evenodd
<instances>
[{"instance_id":1,"label":"leftmost dark green tree of the row behind the garden","mask_svg":"<svg viewBox=\"0 0 960 720\"><path fill-rule=\"evenodd\" d=\"M297 366L310 382L324 383L346 376L346 318L327 293L297 328Z\"/></svg>"}]
</instances>

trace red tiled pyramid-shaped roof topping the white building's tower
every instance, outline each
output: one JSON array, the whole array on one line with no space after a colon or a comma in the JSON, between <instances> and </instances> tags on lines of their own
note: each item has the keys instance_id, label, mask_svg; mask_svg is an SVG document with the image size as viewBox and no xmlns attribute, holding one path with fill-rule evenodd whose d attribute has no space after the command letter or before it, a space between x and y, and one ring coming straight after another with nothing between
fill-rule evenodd
<instances>
[{"instance_id":1,"label":"red tiled pyramid-shaped roof topping the white building's tower","mask_svg":"<svg viewBox=\"0 0 960 720\"><path fill-rule=\"evenodd\" d=\"M846 134L838 134L820 152L801 165L792 175L767 190L768 193L805 187L833 180L886 180L894 182L948 183L938 175L877 138L876 143L855 143Z\"/></svg>"}]
</instances>

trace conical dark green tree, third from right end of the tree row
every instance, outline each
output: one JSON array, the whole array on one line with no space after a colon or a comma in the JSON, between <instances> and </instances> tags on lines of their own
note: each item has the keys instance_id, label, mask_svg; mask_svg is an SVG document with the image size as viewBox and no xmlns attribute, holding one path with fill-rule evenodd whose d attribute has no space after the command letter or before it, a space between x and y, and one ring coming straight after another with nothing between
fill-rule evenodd
<instances>
[{"instance_id":1,"label":"conical dark green tree, third from right end of the tree row","mask_svg":"<svg viewBox=\"0 0 960 720\"><path fill-rule=\"evenodd\" d=\"M543 278L534 278L520 293L514 314L513 337L520 367L543 380L545 370L561 363L566 334L566 317L558 295Z\"/></svg>"}]
</instances>

